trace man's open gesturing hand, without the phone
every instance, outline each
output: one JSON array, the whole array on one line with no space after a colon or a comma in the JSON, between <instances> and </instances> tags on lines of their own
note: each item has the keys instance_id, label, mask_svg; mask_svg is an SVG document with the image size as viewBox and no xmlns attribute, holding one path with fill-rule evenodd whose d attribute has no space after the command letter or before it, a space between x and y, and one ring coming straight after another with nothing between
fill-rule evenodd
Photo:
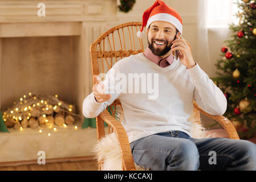
<instances>
[{"instance_id":1,"label":"man's open gesturing hand, without the phone","mask_svg":"<svg viewBox=\"0 0 256 182\"><path fill-rule=\"evenodd\" d=\"M105 102L110 100L111 94L104 93L104 84L103 81L96 75L94 75L95 84L92 87L92 92L94 93L94 97L96 98L97 102Z\"/></svg>"}]
</instances>

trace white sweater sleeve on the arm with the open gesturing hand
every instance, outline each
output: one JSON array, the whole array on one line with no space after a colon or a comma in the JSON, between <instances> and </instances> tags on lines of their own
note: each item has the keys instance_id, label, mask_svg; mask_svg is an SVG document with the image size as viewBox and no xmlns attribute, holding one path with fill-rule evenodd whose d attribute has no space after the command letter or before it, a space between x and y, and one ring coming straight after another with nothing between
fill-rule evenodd
<instances>
[{"instance_id":1,"label":"white sweater sleeve on the arm with the open gesturing hand","mask_svg":"<svg viewBox=\"0 0 256 182\"><path fill-rule=\"evenodd\" d=\"M113 78L115 78L116 73L119 73L119 67L115 64L105 76L104 88L105 93L111 94L111 98L105 102L97 102L94 93L91 92L83 101L83 115L86 118L95 118L102 111L104 111L107 106L111 105L113 101L115 101L119 96L120 92L115 92L115 84L111 84L113 82ZM115 75L112 75L115 74Z\"/></svg>"}]
</instances>

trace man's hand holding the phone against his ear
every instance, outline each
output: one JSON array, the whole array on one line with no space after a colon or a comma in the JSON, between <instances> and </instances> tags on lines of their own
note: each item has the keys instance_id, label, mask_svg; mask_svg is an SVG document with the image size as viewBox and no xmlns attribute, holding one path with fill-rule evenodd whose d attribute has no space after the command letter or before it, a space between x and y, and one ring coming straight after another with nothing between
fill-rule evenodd
<instances>
[{"instance_id":1,"label":"man's hand holding the phone against his ear","mask_svg":"<svg viewBox=\"0 0 256 182\"><path fill-rule=\"evenodd\" d=\"M186 43L184 39L181 39L179 35L176 35L177 39L172 42L172 51L179 51L178 57L183 65L186 68L192 68L196 63L194 62L192 53L190 51L189 45Z\"/></svg>"}]
</instances>

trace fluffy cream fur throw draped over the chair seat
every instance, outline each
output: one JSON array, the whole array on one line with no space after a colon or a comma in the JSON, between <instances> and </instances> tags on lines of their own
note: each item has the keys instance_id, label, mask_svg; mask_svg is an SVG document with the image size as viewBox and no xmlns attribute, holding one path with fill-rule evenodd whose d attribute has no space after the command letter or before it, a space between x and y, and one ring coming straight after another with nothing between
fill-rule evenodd
<instances>
[{"instance_id":1,"label":"fluffy cream fur throw draped over the chair seat","mask_svg":"<svg viewBox=\"0 0 256 182\"><path fill-rule=\"evenodd\" d=\"M192 137L193 138L210 138L215 137L214 134L210 134L202 125L193 122L192 119ZM122 171L122 159L119 143L115 133L106 135L104 138L99 140L92 151L95 154L95 159L103 161L101 169L103 171ZM135 163L135 167L138 171L148 170L144 167L138 166Z\"/></svg>"}]
</instances>

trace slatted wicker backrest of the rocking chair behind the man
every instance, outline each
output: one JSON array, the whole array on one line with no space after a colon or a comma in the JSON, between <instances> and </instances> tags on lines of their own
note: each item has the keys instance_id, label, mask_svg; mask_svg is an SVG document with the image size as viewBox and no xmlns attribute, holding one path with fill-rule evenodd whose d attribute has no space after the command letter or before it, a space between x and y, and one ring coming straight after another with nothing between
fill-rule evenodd
<instances>
[{"instance_id":1,"label":"slatted wicker backrest of the rocking chair behind the man","mask_svg":"<svg viewBox=\"0 0 256 182\"><path fill-rule=\"evenodd\" d=\"M142 22L120 24L103 33L91 44L92 77L99 73L107 73L113 64L124 57L145 51L143 39L137 37L137 31L141 29L141 26ZM188 45L191 51L191 46L189 43ZM92 82L95 84L94 80ZM119 100L111 104L114 106L114 110L110 107L112 113L115 113L116 105L121 105ZM195 112L196 122L200 123L200 113L196 107L194 107Z\"/></svg>"}]
</instances>

